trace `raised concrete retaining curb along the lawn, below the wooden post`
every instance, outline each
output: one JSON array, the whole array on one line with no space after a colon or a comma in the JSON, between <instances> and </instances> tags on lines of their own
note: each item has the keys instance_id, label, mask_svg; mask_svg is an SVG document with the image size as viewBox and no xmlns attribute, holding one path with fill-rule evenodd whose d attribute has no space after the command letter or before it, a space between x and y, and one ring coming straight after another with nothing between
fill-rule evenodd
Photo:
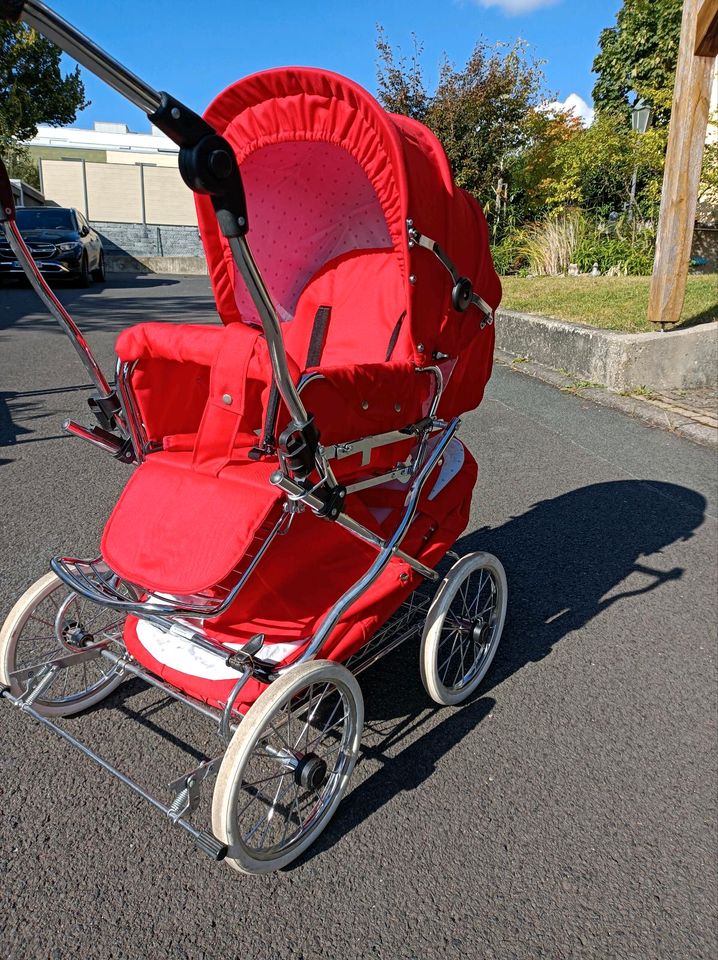
<instances>
[{"instance_id":1,"label":"raised concrete retaining curb along the lawn, below the wooden post","mask_svg":"<svg viewBox=\"0 0 718 960\"><path fill-rule=\"evenodd\" d=\"M712 387L718 371L718 321L633 334L499 310L496 345L614 390Z\"/></svg>"}]
</instances>

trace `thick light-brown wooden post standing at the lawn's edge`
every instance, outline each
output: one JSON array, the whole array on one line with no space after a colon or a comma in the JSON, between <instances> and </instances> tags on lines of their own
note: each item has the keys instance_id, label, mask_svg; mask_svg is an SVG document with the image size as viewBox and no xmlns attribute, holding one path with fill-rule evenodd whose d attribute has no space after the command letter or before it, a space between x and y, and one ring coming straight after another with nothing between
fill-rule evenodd
<instances>
[{"instance_id":1,"label":"thick light-brown wooden post standing at the lawn's edge","mask_svg":"<svg viewBox=\"0 0 718 960\"><path fill-rule=\"evenodd\" d=\"M708 107L715 61L696 56L710 35L718 0L684 0L681 42L673 92L666 169L663 175L661 213L656 238L648 319L663 326L678 323L686 294L688 265L696 218L698 185L708 128Z\"/></svg>"}]
</instances>

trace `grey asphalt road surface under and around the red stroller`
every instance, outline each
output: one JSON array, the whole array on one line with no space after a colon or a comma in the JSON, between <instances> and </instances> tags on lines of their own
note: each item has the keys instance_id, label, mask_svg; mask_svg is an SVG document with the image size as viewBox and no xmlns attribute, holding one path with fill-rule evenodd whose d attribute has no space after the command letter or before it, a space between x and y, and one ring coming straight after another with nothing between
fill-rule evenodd
<instances>
[{"instance_id":1,"label":"grey asphalt road surface under and around the red stroller","mask_svg":"<svg viewBox=\"0 0 718 960\"><path fill-rule=\"evenodd\" d=\"M203 279L60 295L103 361L129 323L213 310ZM95 549L126 476L62 436L85 383L31 292L0 290L0 615ZM510 589L474 699L430 706L417 645L363 674L351 791L266 878L0 704L3 960L716 956L715 455L506 367L462 435L460 546ZM138 683L68 725L158 790L213 742Z\"/></svg>"}]
</instances>

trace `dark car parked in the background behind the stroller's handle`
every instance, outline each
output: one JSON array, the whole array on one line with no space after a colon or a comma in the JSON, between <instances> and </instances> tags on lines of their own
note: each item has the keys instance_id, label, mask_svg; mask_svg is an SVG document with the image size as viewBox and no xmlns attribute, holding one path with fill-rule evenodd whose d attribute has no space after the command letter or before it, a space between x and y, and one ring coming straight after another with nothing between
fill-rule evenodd
<instances>
[{"instance_id":1,"label":"dark car parked in the background behind the stroller's handle","mask_svg":"<svg viewBox=\"0 0 718 960\"><path fill-rule=\"evenodd\" d=\"M79 210L69 207L18 207L17 225L40 270L87 287L105 279L99 234ZM22 276L10 244L0 235L0 279Z\"/></svg>"}]
</instances>

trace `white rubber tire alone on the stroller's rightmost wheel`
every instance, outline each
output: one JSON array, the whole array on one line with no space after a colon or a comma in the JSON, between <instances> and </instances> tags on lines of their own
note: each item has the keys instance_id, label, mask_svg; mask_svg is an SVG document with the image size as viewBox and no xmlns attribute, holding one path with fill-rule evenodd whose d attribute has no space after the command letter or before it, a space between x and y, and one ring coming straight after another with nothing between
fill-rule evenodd
<instances>
[{"instance_id":1,"label":"white rubber tire alone on the stroller's rightmost wheel","mask_svg":"<svg viewBox=\"0 0 718 960\"><path fill-rule=\"evenodd\" d=\"M439 676L439 646L442 640L442 628L461 585L479 570L487 570L496 586L497 598L491 622L489 649L482 655L477 672L460 687L445 685ZM426 615L424 631L421 637L420 668L421 680L432 700L442 706L451 706L466 700L486 676L501 640L506 620L508 587L506 573L501 562L491 553L469 553L461 557L444 577L436 596Z\"/></svg>"}]
</instances>

